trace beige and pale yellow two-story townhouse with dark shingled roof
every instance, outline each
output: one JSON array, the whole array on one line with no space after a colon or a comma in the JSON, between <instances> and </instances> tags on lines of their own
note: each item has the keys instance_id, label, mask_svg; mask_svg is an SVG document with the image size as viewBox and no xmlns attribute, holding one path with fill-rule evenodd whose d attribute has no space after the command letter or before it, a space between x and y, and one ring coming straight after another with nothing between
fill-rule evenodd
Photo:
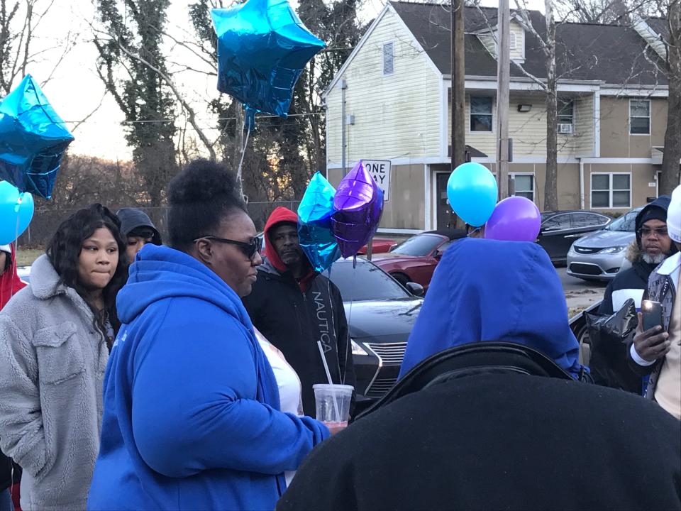
<instances>
[{"instance_id":1,"label":"beige and pale yellow two-story townhouse with dark shingled roof","mask_svg":"<svg viewBox=\"0 0 681 511\"><path fill-rule=\"evenodd\" d=\"M528 15L541 34L543 15ZM466 143L472 161L495 172L497 10L467 7L465 16ZM558 26L560 209L624 213L657 197L667 123L668 87L658 67L664 24ZM536 79L546 70L519 13L511 15L511 60L509 172L515 193L543 210L546 108ZM391 164L382 231L450 221L450 86L448 4L389 1L324 93L329 180L336 185L343 175L343 111L345 167L360 159Z\"/></svg>"}]
</instances>

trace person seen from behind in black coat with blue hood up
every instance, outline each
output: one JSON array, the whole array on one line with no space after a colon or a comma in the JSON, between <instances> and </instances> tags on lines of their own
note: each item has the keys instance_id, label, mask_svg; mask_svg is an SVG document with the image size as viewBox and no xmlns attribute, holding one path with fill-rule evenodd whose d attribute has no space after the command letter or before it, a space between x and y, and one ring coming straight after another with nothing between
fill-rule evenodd
<instances>
[{"instance_id":1,"label":"person seen from behind in black coat with blue hood up","mask_svg":"<svg viewBox=\"0 0 681 511\"><path fill-rule=\"evenodd\" d=\"M574 379L579 345L536 243L445 251L413 368L306 458L277 511L681 510L681 424Z\"/></svg>"}]
</instances>

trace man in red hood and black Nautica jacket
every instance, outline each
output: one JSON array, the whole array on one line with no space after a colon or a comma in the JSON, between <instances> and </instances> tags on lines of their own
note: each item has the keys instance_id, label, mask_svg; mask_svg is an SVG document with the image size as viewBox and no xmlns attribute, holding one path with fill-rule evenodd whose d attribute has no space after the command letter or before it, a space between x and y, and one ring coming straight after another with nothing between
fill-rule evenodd
<instances>
[{"instance_id":1,"label":"man in red hood and black Nautica jacket","mask_svg":"<svg viewBox=\"0 0 681 511\"><path fill-rule=\"evenodd\" d=\"M300 248L298 216L277 207L265 224L265 263L243 298L255 328L274 344L300 378L303 410L314 417L315 383L328 383L321 341L333 383L355 385L348 322L338 287L316 273Z\"/></svg>"}]
</instances>

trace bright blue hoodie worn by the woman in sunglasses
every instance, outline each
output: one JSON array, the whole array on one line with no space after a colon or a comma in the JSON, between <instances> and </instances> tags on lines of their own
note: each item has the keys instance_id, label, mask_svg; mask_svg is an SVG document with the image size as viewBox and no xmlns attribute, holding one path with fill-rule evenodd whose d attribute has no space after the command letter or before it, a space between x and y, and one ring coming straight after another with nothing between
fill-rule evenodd
<instances>
[{"instance_id":1,"label":"bright blue hoodie worn by the woman in sunglasses","mask_svg":"<svg viewBox=\"0 0 681 511\"><path fill-rule=\"evenodd\" d=\"M118 293L88 509L272 510L328 429L279 412L241 300L190 255L147 245Z\"/></svg>"}]
</instances>

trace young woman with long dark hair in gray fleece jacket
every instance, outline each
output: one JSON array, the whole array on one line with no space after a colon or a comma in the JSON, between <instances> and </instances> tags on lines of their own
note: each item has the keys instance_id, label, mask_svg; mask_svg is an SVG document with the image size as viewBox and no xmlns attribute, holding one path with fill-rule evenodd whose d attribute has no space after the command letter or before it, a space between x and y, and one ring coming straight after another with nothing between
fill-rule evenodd
<instances>
[{"instance_id":1,"label":"young woman with long dark hair in gray fleece jacket","mask_svg":"<svg viewBox=\"0 0 681 511\"><path fill-rule=\"evenodd\" d=\"M0 448L23 468L24 511L85 508L125 250L109 209L81 209L0 312Z\"/></svg>"}]
</instances>

